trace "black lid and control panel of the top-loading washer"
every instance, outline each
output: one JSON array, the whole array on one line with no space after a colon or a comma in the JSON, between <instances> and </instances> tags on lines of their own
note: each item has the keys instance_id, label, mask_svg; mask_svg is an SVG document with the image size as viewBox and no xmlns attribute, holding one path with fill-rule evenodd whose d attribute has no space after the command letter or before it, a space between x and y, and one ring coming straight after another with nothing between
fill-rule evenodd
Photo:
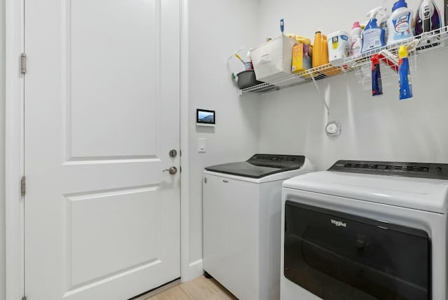
<instances>
[{"instance_id":1,"label":"black lid and control panel of the top-loading washer","mask_svg":"<svg viewBox=\"0 0 448 300\"><path fill-rule=\"evenodd\" d=\"M304 156L255 154L247 161L211 165L205 170L230 175L262 178L279 172L297 170L304 164Z\"/></svg>"}]
</instances>

